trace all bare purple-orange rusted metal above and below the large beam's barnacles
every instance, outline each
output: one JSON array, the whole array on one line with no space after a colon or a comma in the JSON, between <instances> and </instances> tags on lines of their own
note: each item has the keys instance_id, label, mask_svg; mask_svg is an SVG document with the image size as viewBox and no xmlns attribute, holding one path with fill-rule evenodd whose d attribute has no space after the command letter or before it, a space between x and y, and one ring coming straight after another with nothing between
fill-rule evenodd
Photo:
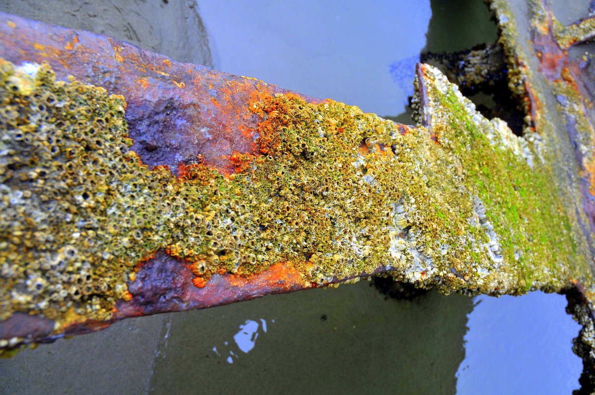
<instances>
[{"instance_id":1,"label":"all bare purple-orange rusted metal above and below the large beam's barnacles","mask_svg":"<svg viewBox=\"0 0 595 395\"><path fill-rule=\"evenodd\" d=\"M234 154L258 153L255 130L259 118L250 106L277 93L291 93L248 77L182 64L109 37L15 15L1 17L0 52L14 64L47 62L58 80L76 76L79 81L123 95L128 135L134 141L131 151L143 164L166 166L173 174L198 162L223 174L234 173ZM292 94L308 103L320 102ZM380 266L349 278L384 271ZM130 282L131 300L120 300L108 321L62 322L56 331L54 320L16 312L0 324L0 338L18 338L19 343L46 341L101 329L126 316L206 308L315 286L304 284L295 269L281 262L252 277L214 273L206 286L199 288L187 265L164 250L145 259L136 278Z\"/></svg>"}]
</instances>

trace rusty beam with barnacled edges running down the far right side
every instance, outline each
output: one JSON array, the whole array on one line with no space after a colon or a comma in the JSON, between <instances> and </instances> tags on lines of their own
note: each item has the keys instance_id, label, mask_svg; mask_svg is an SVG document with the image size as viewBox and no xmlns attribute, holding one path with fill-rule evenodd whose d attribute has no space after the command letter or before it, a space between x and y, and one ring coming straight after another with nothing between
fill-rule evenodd
<instances>
[{"instance_id":1,"label":"rusty beam with barnacled edges running down the far right side","mask_svg":"<svg viewBox=\"0 0 595 395\"><path fill-rule=\"evenodd\" d=\"M575 205L586 220L581 231L593 251L595 230L595 113L593 74L583 52L574 45L593 38L592 17L563 27L543 0L492 0L488 2L500 29L500 44L508 63L509 87L524 101L528 126L549 139L551 161L559 180L566 177L568 189L577 189ZM586 60L586 61L585 61ZM583 358L581 390L595 391L595 320L593 283L573 282L564 291L572 314L582 328L573 350Z\"/></svg>"}]
</instances>

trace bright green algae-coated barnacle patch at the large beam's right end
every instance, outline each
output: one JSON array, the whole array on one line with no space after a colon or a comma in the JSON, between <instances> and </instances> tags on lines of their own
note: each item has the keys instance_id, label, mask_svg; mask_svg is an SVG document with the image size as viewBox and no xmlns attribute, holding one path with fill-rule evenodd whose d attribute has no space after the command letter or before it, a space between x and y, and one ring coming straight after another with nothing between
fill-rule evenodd
<instances>
[{"instance_id":1,"label":"bright green algae-coated barnacle patch at the large beam's right end","mask_svg":"<svg viewBox=\"0 0 595 395\"><path fill-rule=\"evenodd\" d=\"M430 89L433 129L455 140L463 183L486 207L505 265L514 272L513 288L559 290L571 278L588 275L585 241L536 147L502 124L481 120L446 81Z\"/></svg>"}]
</instances>

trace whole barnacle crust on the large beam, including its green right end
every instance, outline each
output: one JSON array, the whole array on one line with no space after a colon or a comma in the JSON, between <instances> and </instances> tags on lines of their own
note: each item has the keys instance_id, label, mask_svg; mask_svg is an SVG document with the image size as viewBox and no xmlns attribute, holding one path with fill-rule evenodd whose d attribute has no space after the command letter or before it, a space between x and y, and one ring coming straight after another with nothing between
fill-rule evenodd
<instances>
[{"instance_id":1,"label":"whole barnacle crust on the large beam, including its green right end","mask_svg":"<svg viewBox=\"0 0 595 395\"><path fill-rule=\"evenodd\" d=\"M109 319L160 249L197 287L278 262L305 287L378 267L444 292L590 281L585 241L534 144L427 65L426 127L267 96L250 104L258 155L234 153L230 175L197 158L177 177L130 151L121 96L55 81L48 65L0 66L0 319Z\"/></svg>"}]
</instances>

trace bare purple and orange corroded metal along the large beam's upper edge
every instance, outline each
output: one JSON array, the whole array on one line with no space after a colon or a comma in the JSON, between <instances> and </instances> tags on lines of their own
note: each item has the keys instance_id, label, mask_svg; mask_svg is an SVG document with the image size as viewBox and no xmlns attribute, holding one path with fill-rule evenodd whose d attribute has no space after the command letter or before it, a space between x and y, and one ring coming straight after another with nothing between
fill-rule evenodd
<instances>
[{"instance_id":1,"label":"bare purple and orange corroded metal along the large beam's upper edge","mask_svg":"<svg viewBox=\"0 0 595 395\"><path fill-rule=\"evenodd\" d=\"M255 153L257 118L249 105L289 92L106 36L2 13L0 55L14 64L48 62L59 80L71 75L124 96L132 151L150 168L166 165L174 174L199 155L206 164L232 172L232 152Z\"/></svg>"}]
</instances>

